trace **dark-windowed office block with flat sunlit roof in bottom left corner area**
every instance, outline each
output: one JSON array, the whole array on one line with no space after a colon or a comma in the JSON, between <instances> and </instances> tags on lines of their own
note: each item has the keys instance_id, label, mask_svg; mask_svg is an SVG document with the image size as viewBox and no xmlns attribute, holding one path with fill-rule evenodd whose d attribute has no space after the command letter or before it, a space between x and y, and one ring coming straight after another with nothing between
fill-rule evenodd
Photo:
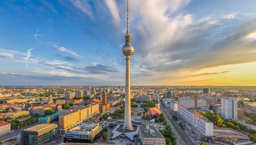
<instances>
[{"instance_id":1,"label":"dark-windowed office block with flat sunlit roof in bottom left corner area","mask_svg":"<svg viewBox=\"0 0 256 145\"><path fill-rule=\"evenodd\" d=\"M40 124L22 130L22 145L47 144L55 140L57 135L56 124Z\"/></svg>"}]
</instances>

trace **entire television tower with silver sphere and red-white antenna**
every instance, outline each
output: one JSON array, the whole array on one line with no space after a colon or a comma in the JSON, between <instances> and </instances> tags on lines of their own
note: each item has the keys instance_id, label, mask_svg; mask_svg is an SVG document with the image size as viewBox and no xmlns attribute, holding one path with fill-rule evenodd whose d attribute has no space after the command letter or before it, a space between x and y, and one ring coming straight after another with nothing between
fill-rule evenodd
<instances>
[{"instance_id":1,"label":"entire television tower with silver sphere and red-white antenna","mask_svg":"<svg viewBox=\"0 0 256 145\"><path fill-rule=\"evenodd\" d=\"M122 52L126 56L125 123L123 124L123 129L133 130L131 125L130 56L134 54L134 49L131 45L131 35L129 34L129 0L127 0L127 31Z\"/></svg>"}]
</instances>

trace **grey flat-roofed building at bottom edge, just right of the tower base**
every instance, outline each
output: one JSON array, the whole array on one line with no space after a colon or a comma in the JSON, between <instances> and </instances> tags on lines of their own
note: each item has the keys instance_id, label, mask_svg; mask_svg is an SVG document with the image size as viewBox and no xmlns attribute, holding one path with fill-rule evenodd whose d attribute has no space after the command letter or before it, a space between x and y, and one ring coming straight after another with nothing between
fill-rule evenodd
<instances>
[{"instance_id":1,"label":"grey flat-roofed building at bottom edge, just right of the tower base","mask_svg":"<svg viewBox=\"0 0 256 145\"><path fill-rule=\"evenodd\" d=\"M139 126L139 136L143 145L164 145L166 138L156 129L155 126Z\"/></svg>"}]
</instances>

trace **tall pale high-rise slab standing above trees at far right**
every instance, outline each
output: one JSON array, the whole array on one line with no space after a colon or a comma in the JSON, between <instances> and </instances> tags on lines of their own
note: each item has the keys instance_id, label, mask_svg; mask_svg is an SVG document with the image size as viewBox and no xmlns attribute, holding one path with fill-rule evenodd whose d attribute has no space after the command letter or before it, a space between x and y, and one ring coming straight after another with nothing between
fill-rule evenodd
<instances>
[{"instance_id":1,"label":"tall pale high-rise slab standing above trees at far right","mask_svg":"<svg viewBox=\"0 0 256 145\"><path fill-rule=\"evenodd\" d=\"M237 119L236 98L221 98L221 118Z\"/></svg>"}]
</instances>

